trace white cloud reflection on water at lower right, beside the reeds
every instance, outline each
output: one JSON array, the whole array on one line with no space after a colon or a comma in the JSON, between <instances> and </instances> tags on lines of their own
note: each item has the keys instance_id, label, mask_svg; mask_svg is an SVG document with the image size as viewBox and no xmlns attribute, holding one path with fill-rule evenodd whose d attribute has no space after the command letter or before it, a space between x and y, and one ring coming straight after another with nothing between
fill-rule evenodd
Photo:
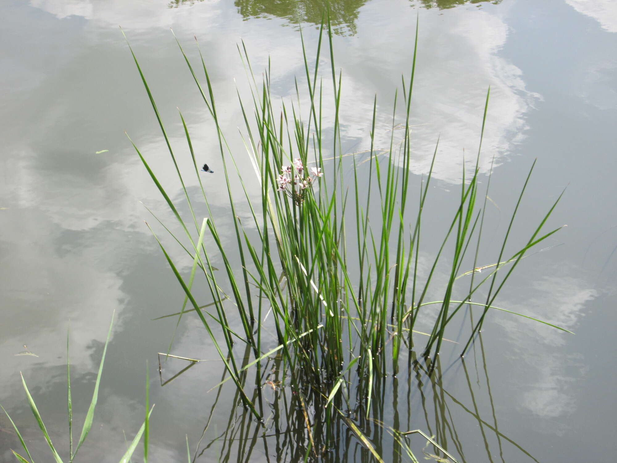
<instances>
[{"instance_id":1,"label":"white cloud reflection on water at lower right, beside the reeds","mask_svg":"<svg viewBox=\"0 0 617 463\"><path fill-rule=\"evenodd\" d=\"M594 306L598 291L573 266L555 268L536 263L536 268L529 270L517 278L525 290L516 294L507 290L505 302L497 305L576 333L582 317ZM513 358L526 365L525 376L513 378L510 386L513 400L542 418L534 422L538 430L561 435L568 428L563 417L576 411L578 380L585 377L587 361L582 354L566 349L573 335L507 315L495 314L495 323L504 328ZM561 419L556 421L558 417Z\"/></svg>"}]
</instances>

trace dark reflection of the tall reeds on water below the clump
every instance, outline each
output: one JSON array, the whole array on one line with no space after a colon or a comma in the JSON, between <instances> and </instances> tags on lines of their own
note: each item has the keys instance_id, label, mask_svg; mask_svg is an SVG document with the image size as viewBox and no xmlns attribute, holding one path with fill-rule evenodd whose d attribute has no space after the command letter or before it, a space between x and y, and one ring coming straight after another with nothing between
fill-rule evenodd
<instances>
[{"instance_id":1,"label":"dark reflection of the tall reeds on water below the clump","mask_svg":"<svg viewBox=\"0 0 617 463\"><path fill-rule=\"evenodd\" d=\"M242 367L250 357L247 346ZM387 358L383 356L381 363ZM193 365L195 362L189 367ZM449 375L449 370L456 372ZM481 336L476 352L468 359L444 369L439 357L425 362L411 351L407 368L400 373L399 377L405 379L393 375L376 378L368 404L366 381L361 380L366 372L349 370L341 387L343 393L328 404L325 388L312 382L313 378L303 380L302 370L289 372L281 356L272 357L261 368L244 370L240 378L247 391L252 388L251 400L263 410L264 419L259 422L242 406L238 392L231 404L226 400L219 404L228 379L222 369L221 383L215 386L216 397L191 459L237 463L463 463L478 461L481 456L486 458L483 461L495 463L537 462L499 429ZM452 386L456 391L444 385L453 375L460 379ZM296 384L303 385L299 390L292 388L292 376ZM218 406L229 410L223 430L213 425Z\"/></svg>"}]
</instances>

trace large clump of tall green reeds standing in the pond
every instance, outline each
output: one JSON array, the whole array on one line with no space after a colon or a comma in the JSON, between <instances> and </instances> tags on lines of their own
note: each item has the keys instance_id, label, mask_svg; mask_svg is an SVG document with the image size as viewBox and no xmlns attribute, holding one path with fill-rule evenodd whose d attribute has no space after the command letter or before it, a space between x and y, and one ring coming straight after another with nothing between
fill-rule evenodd
<instances>
[{"instance_id":1,"label":"large clump of tall green reeds standing in the pond","mask_svg":"<svg viewBox=\"0 0 617 463\"><path fill-rule=\"evenodd\" d=\"M328 85L318 79L324 30L329 45L328 73L331 82ZM225 180L225 193L229 199L227 217L212 214L209 194L197 167L201 165L201 160L196 159L188 125L180 114L193 170L209 211L209 217L203 220L197 219L194 208L197 199L188 192L154 97L133 54L191 214L188 220L181 216L143 154L133 145L175 215L182 234L176 236L166 230L193 259L190 274L183 277L162 241L156 238L186 293L178 323L188 304L207 330L225 364L228 378L236 385L239 400L260 421L266 420L268 415L262 390L257 388L247 392L244 378L249 368L253 367L257 369L257 377L261 378L268 358L279 356L283 363L280 370L288 372L289 377L277 377L276 381L291 386L296 392L296 400L305 404L301 407L304 415L298 419L300 422L304 420L307 426L313 452L335 445L342 427L349 428L355 439L362 440L362 430L355 423L361 424L368 419L379 406L379 402L373 403L374 398L386 393L383 390L385 385L378 378L383 377L386 371L387 359L392 362L394 373L397 373L399 357L415 346L421 349L425 359L434 356L441 350L445 329L453 317L462 312L460 309L463 306L475 304L481 307L481 315L472 323L464 353L477 336L487 312L498 309L493 302L525 252L557 231L540 233L557 204L555 202L519 250L505 253L507 244L510 245L510 230L530 171L511 214L508 231L496 259L499 264L491 271L482 273L483 278L479 282L474 282L475 273L472 272L468 289L457 285L457 282L460 283L457 275L461 275L465 268L478 268L476 261L486 209L486 199L479 201L482 196L486 198L486 193L481 193L478 186L480 151L473 172L465 172L463 167L462 184L454 212L447 219L447 228L424 230L421 222L428 213L424 204L433 164L428 176L419 182L410 175L413 153L409 120L415 58L410 78L404 81L402 90L404 122L399 126L397 121L392 120L390 146L385 151L388 156L375 147L378 118L375 99L372 123L368 128L370 154L368 162L362 164L357 156L346 156L341 150L339 114L342 76L336 73L332 40L333 30L328 20L326 27L322 26L320 30L314 64L309 61L307 49L302 43L307 90L300 92L299 82L296 81L297 103L279 102L271 94L270 69L265 71L262 83L257 83L242 43L239 49L249 73L252 92L250 103L239 96L244 115L245 134L242 141L247 151L244 156L231 151L220 128L219 107L203 57L200 65L205 81L202 84L178 42L216 129L220 167L217 167L215 175ZM326 109L325 92L332 92L333 95L330 109ZM302 106L308 112L305 119L300 113L300 101L304 101ZM488 95L486 102L488 104ZM326 116L333 121L331 126L325 126ZM482 133L484 122L486 108ZM403 128L396 131L402 132L402 140L399 141L394 139L394 128L397 127ZM379 152L382 156L377 156ZM437 146L433 162L436 152ZM240 175L237 162L252 165L257 183L250 191ZM281 172L291 172L291 177L294 173L301 177L302 172L312 166L323 169L325 177L315 175L312 185L302 190L302 199L289 195L289 191L287 195L276 191L281 188ZM352 172L351 181L344 177L344 170ZM292 181L292 186L286 188L299 188L299 181ZM244 196L244 200L239 201L238 193ZM259 199L251 200L255 196ZM241 222L239 211L248 214L249 220L243 219ZM218 224L229 222L233 222L233 231L226 231L227 236L223 237ZM189 231L193 227L195 231ZM442 241L434 252L428 274L420 275L420 238L425 233L441 235ZM183 241L188 243L187 246ZM475 257L466 257L468 250L474 247ZM215 260L217 265L222 262L220 272L213 271ZM438 266L445 268L447 273L445 282L439 283L442 296L439 301L428 301L429 286L435 279ZM505 266L508 268L504 269ZM212 312L198 304L197 296L192 291L197 274L204 275ZM484 283L488 286L486 299L472 302L472 296ZM432 307L436 309L431 311ZM417 332L418 319L431 315L433 326L429 328L429 333ZM270 333L273 336L270 337ZM272 339L276 342L275 348L271 348ZM252 360L246 360L244 365L240 365L231 355L234 344L238 342L245 344L252 356ZM362 413L355 415L357 419L345 414L345 410L352 408L348 396L349 382L357 383L355 387L362 391L362 401L366 403ZM276 383L273 385L276 386ZM310 410L313 412L309 413ZM313 414L318 414L318 417ZM383 420L383 416L375 419ZM313 425L310 424L311 420ZM311 426L315 423L318 428L313 432ZM386 433L385 430L380 432ZM377 453L376 449L373 451Z\"/></svg>"}]
</instances>

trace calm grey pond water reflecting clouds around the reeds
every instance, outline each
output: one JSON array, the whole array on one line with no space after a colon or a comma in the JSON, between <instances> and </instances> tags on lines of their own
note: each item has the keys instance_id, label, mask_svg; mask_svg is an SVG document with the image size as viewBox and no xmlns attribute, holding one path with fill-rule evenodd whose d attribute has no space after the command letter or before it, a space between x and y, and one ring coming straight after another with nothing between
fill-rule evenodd
<instances>
[{"instance_id":1,"label":"calm grey pond water reflecting clouds around the reeds","mask_svg":"<svg viewBox=\"0 0 617 463\"><path fill-rule=\"evenodd\" d=\"M246 81L236 45L244 40L258 77L270 59L273 91L293 96L294 76L304 74L299 25L313 50L320 2L7 0L0 11L0 404L19 425L35 461L49 461L49 454L20 372L52 440L66 448L67 328L80 426L114 311L94 427L77 461L120 459L123 430L131 438L143 421L146 360L156 403L152 462L186 461L185 435L193 454L202 433L196 461L302 461L304 453L294 453L299 450L286 437L292 432L276 436L280 428L274 427L264 439L255 423L238 418L242 410L230 383L209 392L223 370L196 318L184 317L172 353L212 361L159 386L157 352L167 350L175 319L152 319L178 312L183 291L143 223L151 216L140 201L164 222L173 217L124 131L173 199L181 201L181 189L118 25L178 146L184 135L176 107L183 111L197 152L215 170L207 174L207 190L213 211L224 217L225 180L212 154L218 149L215 132L170 27L192 59L198 57L197 36L218 91L223 131L233 134L243 125L234 78L241 87ZM521 261L495 304L576 335L491 313L482 344L465 362L456 349L444 352L441 382L416 380L416 372L407 370L384 378L381 420L436 435L459 461L614 461L615 2L336 1L333 17L336 67L343 76L341 133L349 152L370 148L374 94L381 118L376 138L387 143L394 90L410 70L419 18L412 172L426 173L441 136L431 192L436 207L458 194L463 153L478 149L491 86L479 165L486 181L494 162L487 240L495 235L495 243L481 256L486 264L493 262L534 159L514 231L521 243L567 186L547 223L567 225L546 245L560 246ZM232 143L244 152L239 137ZM181 167L189 166L186 149L184 154ZM241 165L246 175L250 169ZM233 237L225 239L234 246ZM190 261L182 264L189 272ZM457 336L457 328L447 334ZM184 367L180 360L167 362L163 380ZM265 390L271 397L276 393ZM296 420L281 412L281 422ZM425 443L412 439L416 456L425 456ZM387 435L378 445L385 461L409 461L389 447ZM2 461L13 461L10 448L17 450L19 441L2 415ZM372 460L348 433L325 461Z\"/></svg>"}]
</instances>

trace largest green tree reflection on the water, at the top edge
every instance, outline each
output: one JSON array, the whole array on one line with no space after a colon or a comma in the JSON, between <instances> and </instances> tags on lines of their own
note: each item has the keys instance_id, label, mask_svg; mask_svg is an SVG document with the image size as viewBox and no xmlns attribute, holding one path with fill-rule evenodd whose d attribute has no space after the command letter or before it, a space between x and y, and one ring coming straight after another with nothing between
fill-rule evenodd
<instances>
[{"instance_id":1,"label":"largest green tree reflection on the water, at the top edge","mask_svg":"<svg viewBox=\"0 0 617 463\"><path fill-rule=\"evenodd\" d=\"M176 0L177 1L177 0ZM368 0L330 0L330 20L337 35L354 35L358 9ZM277 16L292 24L321 24L322 0L234 0L238 12L247 20Z\"/></svg>"}]
</instances>

